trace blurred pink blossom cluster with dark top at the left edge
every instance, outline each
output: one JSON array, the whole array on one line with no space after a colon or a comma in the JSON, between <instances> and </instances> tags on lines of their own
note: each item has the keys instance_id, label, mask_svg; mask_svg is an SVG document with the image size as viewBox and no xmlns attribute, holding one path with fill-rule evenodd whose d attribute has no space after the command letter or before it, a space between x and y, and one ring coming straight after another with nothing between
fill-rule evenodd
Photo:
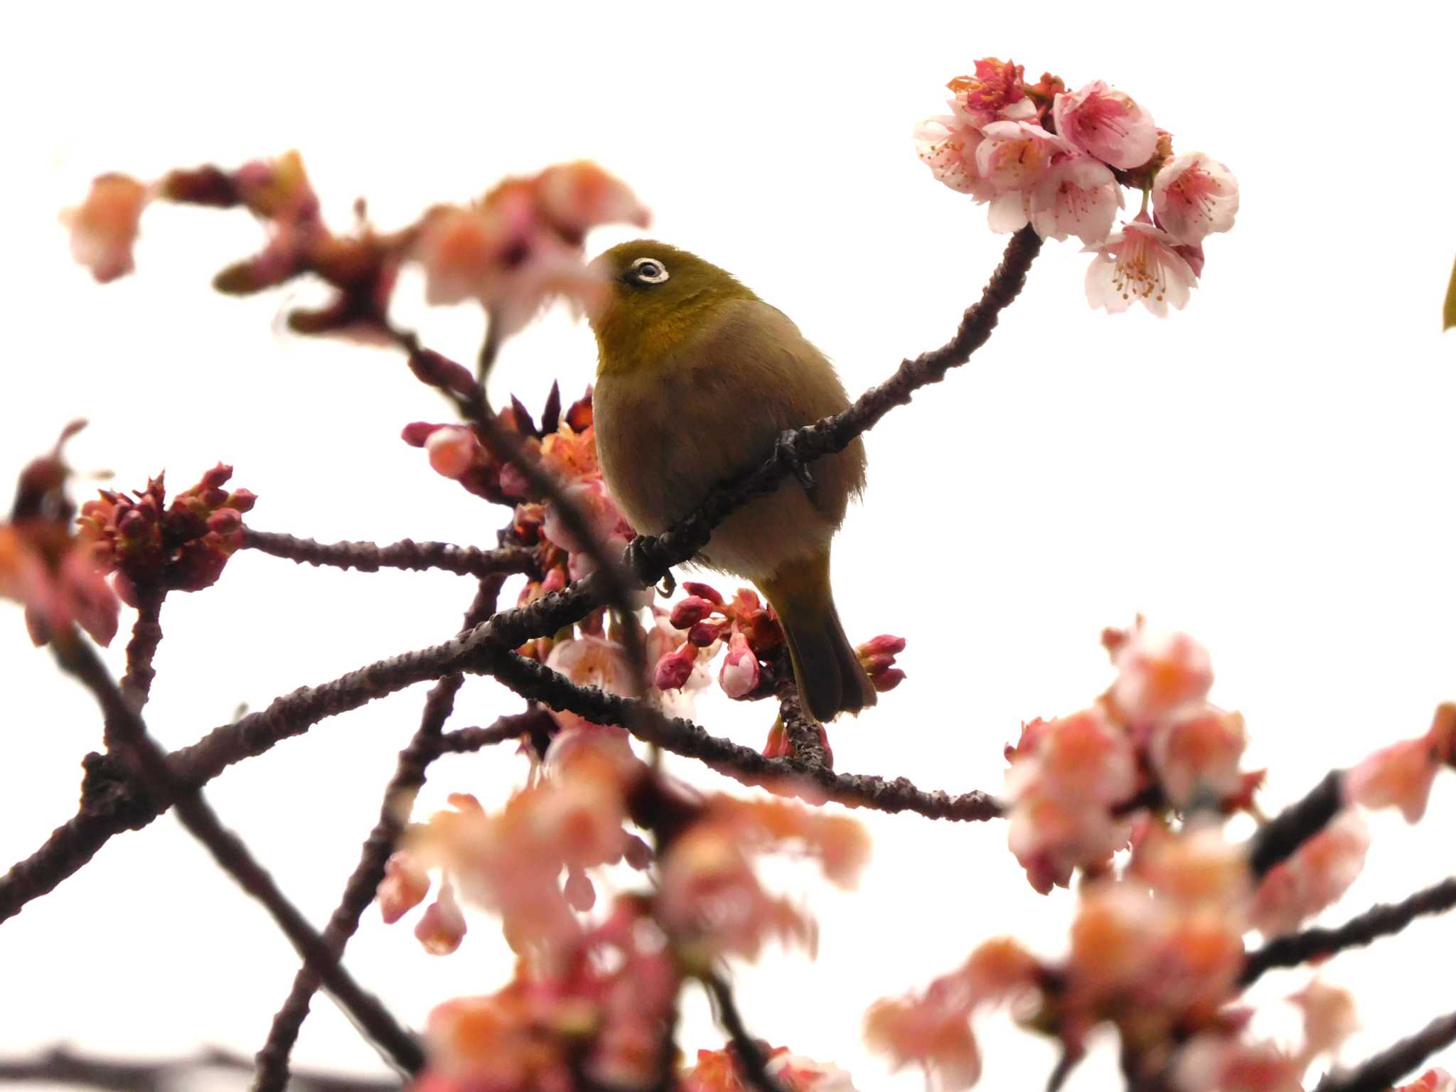
<instances>
[{"instance_id":1,"label":"blurred pink blossom cluster with dark top at the left edge","mask_svg":"<svg viewBox=\"0 0 1456 1092\"><path fill-rule=\"evenodd\" d=\"M0 523L0 598L25 607L36 645L68 633L73 625L102 645L116 635L116 596L86 543L71 533L76 507L66 494L71 472L61 447L84 424L67 425L51 453L20 472L10 521Z\"/></svg>"}]
</instances>

